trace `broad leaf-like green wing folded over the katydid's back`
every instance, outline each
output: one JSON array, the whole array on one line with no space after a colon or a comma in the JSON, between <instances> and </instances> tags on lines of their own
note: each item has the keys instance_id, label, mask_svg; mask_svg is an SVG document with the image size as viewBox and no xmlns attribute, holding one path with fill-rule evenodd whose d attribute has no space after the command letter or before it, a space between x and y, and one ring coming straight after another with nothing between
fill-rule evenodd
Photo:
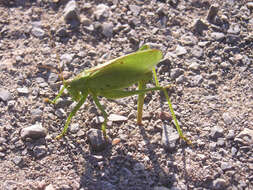
<instances>
[{"instance_id":1,"label":"broad leaf-like green wing folded over the katydid's back","mask_svg":"<svg viewBox=\"0 0 253 190\"><path fill-rule=\"evenodd\" d=\"M100 92L120 89L150 78L152 68L162 59L162 52L147 49L111 60L86 70L89 73L88 88Z\"/></svg>"}]
</instances>

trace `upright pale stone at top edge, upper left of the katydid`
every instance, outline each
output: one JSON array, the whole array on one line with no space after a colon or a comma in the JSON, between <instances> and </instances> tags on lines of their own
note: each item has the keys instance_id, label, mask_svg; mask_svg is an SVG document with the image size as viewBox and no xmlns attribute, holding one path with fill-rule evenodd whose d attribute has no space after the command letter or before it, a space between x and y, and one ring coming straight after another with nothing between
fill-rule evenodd
<instances>
[{"instance_id":1,"label":"upright pale stone at top edge, upper left of the katydid","mask_svg":"<svg viewBox=\"0 0 253 190\"><path fill-rule=\"evenodd\" d=\"M75 20L79 22L79 13L77 10L77 3L74 0L69 1L63 11L65 21Z\"/></svg>"}]
</instances>

